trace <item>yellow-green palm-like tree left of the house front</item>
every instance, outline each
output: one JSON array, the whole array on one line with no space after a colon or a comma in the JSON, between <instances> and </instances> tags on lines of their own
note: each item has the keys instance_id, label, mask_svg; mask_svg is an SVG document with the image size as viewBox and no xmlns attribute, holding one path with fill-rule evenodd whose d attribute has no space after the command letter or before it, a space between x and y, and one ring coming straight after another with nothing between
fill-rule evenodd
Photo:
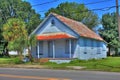
<instances>
[{"instance_id":1,"label":"yellow-green palm-like tree left of the house front","mask_svg":"<svg viewBox=\"0 0 120 80\"><path fill-rule=\"evenodd\" d=\"M28 37L25 22L17 18L8 19L2 30L3 37L8 42L8 49L17 51L21 58Z\"/></svg>"}]
</instances>

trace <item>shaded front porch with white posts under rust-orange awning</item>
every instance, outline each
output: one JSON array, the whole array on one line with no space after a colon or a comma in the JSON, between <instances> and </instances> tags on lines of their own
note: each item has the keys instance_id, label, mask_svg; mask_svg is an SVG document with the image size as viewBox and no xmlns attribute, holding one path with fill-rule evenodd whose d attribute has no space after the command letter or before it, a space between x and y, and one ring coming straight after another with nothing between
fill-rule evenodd
<instances>
[{"instance_id":1,"label":"shaded front porch with white posts under rust-orange awning","mask_svg":"<svg viewBox=\"0 0 120 80\"><path fill-rule=\"evenodd\" d=\"M62 34L63 35L63 34ZM56 34L55 34L56 36ZM44 35L39 36L37 46L36 46L36 58L49 58L49 59L68 59L73 58L74 51L76 47L76 39L74 37L68 36L59 36L53 38L47 35L47 39Z\"/></svg>"}]
</instances>

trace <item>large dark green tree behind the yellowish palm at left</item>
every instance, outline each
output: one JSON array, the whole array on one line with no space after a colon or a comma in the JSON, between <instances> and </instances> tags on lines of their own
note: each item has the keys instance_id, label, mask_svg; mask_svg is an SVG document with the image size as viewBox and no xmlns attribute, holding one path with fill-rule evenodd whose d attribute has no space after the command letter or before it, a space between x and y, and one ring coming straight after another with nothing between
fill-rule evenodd
<instances>
[{"instance_id":1,"label":"large dark green tree behind the yellowish palm at left","mask_svg":"<svg viewBox=\"0 0 120 80\"><path fill-rule=\"evenodd\" d=\"M32 9L30 3L22 0L0 0L0 28L9 18L21 18L27 25L28 34L41 21L40 15Z\"/></svg>"}]
</instances>

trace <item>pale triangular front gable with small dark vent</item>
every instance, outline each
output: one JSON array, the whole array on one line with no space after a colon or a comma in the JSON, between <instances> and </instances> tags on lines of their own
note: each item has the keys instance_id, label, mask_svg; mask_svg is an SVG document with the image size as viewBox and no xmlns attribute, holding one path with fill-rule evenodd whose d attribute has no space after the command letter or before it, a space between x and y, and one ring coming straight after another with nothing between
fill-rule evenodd
<instances>
[{"instance_id":1,"label":"pale triangular front gable with small dark vent","mask_svg":"<svg viewBox=\"0 0 120 80\"><path fill-rule=\"evenodd\" d=\"M54 20L54 23L52 22ZM52 25L52 23L54 25ZM79 35L73 31L70 27L67 25L64 25L63 22L61 22L57 17L55 17L52 14L49 14L44 21L31 33L35 35L40 34L50 34L50 33L66 33L70 34L75 37L79 37Z\"/></svg>"}]
</instances>

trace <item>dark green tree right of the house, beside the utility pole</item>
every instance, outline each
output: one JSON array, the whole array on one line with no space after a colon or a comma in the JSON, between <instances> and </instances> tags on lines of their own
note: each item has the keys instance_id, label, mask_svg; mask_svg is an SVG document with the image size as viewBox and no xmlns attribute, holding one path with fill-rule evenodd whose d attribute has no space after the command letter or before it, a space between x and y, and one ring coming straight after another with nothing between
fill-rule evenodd
<instances>
[{"instance_id":1,"label":"dark green tree right of the house, beside the utility pole","mask_svg":"<svg viewBox=\"0 0 120 80\"><path fill-rule=\"evenodd\" d=\"M115 13L107 13L102 16L103 29L100 30L100 35L108 43L108 56L110 55L110 49L114 48L116 54L118 53L118 47L120 42L118 38L117 18Z\"/></svg>"}]
</instances>

